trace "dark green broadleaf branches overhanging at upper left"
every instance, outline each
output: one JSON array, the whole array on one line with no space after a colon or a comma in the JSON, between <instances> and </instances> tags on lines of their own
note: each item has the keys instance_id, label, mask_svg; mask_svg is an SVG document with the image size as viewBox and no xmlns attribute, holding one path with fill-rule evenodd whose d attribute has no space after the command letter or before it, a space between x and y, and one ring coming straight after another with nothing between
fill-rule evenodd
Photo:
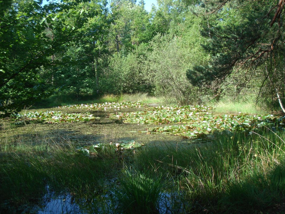
<instances>
[{"instance_id":1,"label":"dark green broadleaf branches overhanging at upper left","mask_svg":"<svg viewBox=\"0 0 285 214\"><path fill-rule=\"evenodd\" d=\"M44 6L40 1L5 2L0 16L1 116L48 94L38 68L64 62L65 57L54 60L50 56L64 51L70 41L83 36L84 33L69 25L68 19L74 19L80 28L90 15L97 13L88 14L79 6L80 2Z\"/></svg>"}]
</instances>

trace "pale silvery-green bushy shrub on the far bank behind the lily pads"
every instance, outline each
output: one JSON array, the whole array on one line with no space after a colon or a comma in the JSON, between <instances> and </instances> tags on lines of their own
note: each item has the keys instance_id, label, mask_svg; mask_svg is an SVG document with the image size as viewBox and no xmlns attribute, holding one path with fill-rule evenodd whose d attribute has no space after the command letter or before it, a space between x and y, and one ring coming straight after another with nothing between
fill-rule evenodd
<instances>
[{"instance_id":1,"label":"pale silvery-green bushy shrub on the far bank behind the lily pads","mask_svg":"<svg viewBox=\"0 0 285 214\"><path fill-rule=\"evenodd\" d=\"M197 33L196 36L199 37ZM186 78L186 70L189 67L203 63L203 58L199 58L203 52L199 48L188 45L186 47L184 44L189 42L194 46L200 45L199 39L196 42L193 40L194 37L187 41L158 35L150 43L152 52L148 56L149 70L145 72L145 76L148 82L153 84L154 94L164 96L168 104L199 104L197 96L201 97L204 94Z\"/></svg>"}]
</instances>

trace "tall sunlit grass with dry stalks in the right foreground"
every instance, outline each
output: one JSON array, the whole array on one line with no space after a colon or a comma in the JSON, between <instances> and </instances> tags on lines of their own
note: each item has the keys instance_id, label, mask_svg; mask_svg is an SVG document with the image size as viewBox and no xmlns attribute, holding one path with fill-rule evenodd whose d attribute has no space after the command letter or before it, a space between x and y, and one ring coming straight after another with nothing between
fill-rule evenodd
<instances>
[{"instance_id":1,"label":"tall sunlit grass with dry stalks in the right foreground","mask_svg":"<svg viewBox=\"0 0 285 214\"><path fill-rule=\"evenodd\" d=\"M264 211L285 199L285 135L279 134L219 135L211 145L144 148L133 167L165 178L178 177L191 212ZM248 200L246 196L253 193Z\"/></svg>"}]
</instances>

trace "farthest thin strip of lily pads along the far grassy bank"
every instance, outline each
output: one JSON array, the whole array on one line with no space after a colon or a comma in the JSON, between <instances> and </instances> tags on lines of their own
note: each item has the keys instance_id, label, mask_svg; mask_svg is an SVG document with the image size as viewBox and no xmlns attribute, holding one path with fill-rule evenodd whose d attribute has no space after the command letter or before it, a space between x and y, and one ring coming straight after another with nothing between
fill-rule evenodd
<instances>
[{"instance_id":1,"label":"farthest thin strip of lily pads along the far grassy bank","mask_svg":"<svg viewBox=\"0 0 285 214\"><path fill-rule=\"evenodd\" d=\"M77 104L59 106L58 108L71 108L71 109L87 109L87 110L107 110L107 109L121 109L121 108L140 108L145 106L144 103L138 102L105 102L105 103L93 103L93 104Z\"/></svg>"}]
</instances>

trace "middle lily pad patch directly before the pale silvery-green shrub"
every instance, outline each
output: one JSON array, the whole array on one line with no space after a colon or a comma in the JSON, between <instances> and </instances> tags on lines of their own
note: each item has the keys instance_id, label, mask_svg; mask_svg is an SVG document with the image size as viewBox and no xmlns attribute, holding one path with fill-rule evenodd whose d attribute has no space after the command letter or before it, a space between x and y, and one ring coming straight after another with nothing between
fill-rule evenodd
<instances>
[{"instance_id":1,"label":"middle lily pad patch directly before the pale silvery-green shrub","mask_svg":"<svg viewBox=\"0 0 285 214\"><path fill-rule=\"evenodd\" d=\"M154 110L109 114L109 118L124 119L138 124L170 124L192 121L209 115L210 106L157 106Z\"/></svg>"}]
</instances>

